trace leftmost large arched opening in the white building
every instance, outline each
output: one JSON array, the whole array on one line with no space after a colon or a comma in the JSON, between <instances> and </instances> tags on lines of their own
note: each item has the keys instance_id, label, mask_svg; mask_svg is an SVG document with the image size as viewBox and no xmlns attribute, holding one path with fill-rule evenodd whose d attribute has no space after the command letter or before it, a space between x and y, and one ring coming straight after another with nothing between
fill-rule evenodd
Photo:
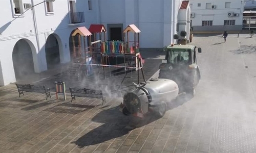
<instances>
[{"instance_id":1,"label":"leftmost large arched opening in the white building","mask_svg":"<svg viewBox=\"0 0 256 153\"><path fill-rule=\"evenodd\" d=\"M32 48L29 40L20 39L13 47L12 61L16 80L25 80L34 73Z\"/></svg>"}]
</instances>

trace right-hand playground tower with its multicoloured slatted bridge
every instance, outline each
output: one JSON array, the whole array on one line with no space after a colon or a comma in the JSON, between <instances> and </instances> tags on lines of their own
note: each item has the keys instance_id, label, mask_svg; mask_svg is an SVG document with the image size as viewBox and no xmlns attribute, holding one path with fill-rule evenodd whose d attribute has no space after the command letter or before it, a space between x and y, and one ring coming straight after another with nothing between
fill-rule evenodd
<instances>
[{"instance_id":1,"label":"right-hand playground tower with its multicoloured slatted bridge","mask_svg":"<svg viewBox=\"0 0 256 153\"><path fill-rule=\"evenodd\" d=\"M134 34L134 41L130 41L129 32ZM139 53L139 33L140 30L134 24L128 25L124 30L123 41L112 40L108 42L101 42L101 64L104 70L105 76L105 67L115 67L115 74L117 74L117 68L124 69L125 77L127 70L132 71L136 70L138 74L138 83L139 83L139 69L142 71L142 77L144 78L144 72L142 69L143 60ZM137 36L137 37L136 37ZM131 46L130 46L130 43ZM110 64L111 59L115 61L115 66ZM117 59L123 59L123 66L117 64ZM128 65L127 65L128 64ZM111 71L111 70L110 70ZM115 76L116 77L116 76Z\"/></svg>"}]
</instances>

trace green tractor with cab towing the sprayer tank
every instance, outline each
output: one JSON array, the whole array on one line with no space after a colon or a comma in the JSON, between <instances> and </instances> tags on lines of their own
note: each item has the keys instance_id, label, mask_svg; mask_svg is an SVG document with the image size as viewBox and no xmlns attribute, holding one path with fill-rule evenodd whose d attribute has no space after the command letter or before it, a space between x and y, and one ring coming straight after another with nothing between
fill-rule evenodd
<instances>
[{"instance_id":1,"label":"green tractor with cab towing the sprayer tank","mask_svg":"<svg viewBox=\"0 0 256 153\"><path fill-rule=\"evenodd\" d=\"M194 96L201 75L197 65L196 49L198 53L202 49L193 45L169 45L164 47L165 59L159 66L159 79L173 80L178 84L179 93Z\"/></svg>"}]
</instances>

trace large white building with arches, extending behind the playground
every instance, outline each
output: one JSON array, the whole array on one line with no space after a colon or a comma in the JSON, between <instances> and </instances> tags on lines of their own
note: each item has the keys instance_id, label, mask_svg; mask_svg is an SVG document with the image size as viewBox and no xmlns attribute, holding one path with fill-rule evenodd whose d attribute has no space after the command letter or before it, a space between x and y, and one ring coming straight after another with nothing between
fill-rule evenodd
<instances>
[{"instance_id":1,"label":"large white building with arches, extending behind the playground","mask_svg":"<svg viewBox=\"0 0 256 153\"><path fill-rule=\"evenodd\" d=\"M70 62L70 35L77 27L104 24L108 39L118 40L127 25L135 24L142 48L169 45L183 30L189 36L188 1L10 0L0 5L0 86Z\"/></svg>"}]
</instances>

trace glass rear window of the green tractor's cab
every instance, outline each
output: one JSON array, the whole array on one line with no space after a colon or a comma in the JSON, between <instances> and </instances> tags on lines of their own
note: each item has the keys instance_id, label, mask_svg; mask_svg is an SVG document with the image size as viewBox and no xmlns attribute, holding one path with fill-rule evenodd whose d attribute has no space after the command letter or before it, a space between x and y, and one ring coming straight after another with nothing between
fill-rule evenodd
<instances>
[{"instance_id":1,"label":"glass rear window of the green tractor's cab","mask_svg":"<svg viewBox=\"0 0 256 153\"><path fill-rule=\"evenodd\" d=\"M190 53L190 49L170 49L168 50L167 61L173 64L189 63Z\"/></svg>"}]
</instances>

